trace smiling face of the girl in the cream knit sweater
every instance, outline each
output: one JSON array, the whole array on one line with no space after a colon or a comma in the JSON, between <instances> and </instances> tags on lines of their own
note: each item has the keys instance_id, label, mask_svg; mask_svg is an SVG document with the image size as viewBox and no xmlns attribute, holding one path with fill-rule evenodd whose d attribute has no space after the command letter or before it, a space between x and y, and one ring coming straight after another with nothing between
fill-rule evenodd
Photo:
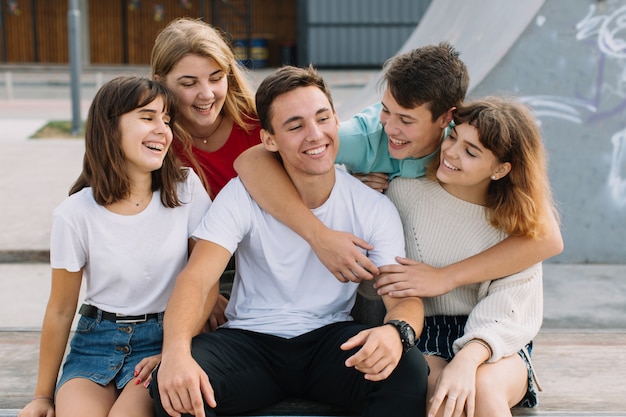
<instances>
[{"instance_id":1,"label":"smiling face of the girl in the cream knit sweater","mask_svg":"<svg viewBox=\"0 0 626 417\"><path fill-rule=\"evenodd\" d=\"M462 123L441 145L437 179L455 197L484 205L491 181L504 177L510 169L510 163L501 163L480 143L478 129Z\"/></svg>"}]
</instances>

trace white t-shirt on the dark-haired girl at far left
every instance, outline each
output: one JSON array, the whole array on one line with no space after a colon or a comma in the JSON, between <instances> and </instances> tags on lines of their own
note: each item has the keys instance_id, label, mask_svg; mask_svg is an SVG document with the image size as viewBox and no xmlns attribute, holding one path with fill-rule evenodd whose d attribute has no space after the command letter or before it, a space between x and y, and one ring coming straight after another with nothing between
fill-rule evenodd
<instances>
[{"instance_id":1,"label":"white t-shirt on the dark-haired girl at far left","mask_svg":"<svg viewBox=\"0 0 626 417\"><path fill-rule=\"evenodd\" d=\"M198 176L188 170L178 185L175 208L157 191L132 216L96 203L90 187L69 196L54 211L52 268L84 268L85 302L127 315L165 310L178 273L187 263L188 240L211 205Z\"/></svg>"}]
</instances>

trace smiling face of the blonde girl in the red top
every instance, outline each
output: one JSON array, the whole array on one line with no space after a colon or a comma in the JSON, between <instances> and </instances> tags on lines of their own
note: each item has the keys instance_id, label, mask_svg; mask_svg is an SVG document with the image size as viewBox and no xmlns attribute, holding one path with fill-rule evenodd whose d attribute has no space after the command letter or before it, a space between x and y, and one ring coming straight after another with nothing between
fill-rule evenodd
<instances>
[{"instance_id":1,"label":"smiling face of the blonde girl in the red top","mask_svg":"<svg viewBox=\"0 0 626 417\"><path fill-rule=\"evenodd\" d=\"M228 93L228 78L212 58L187 55L161 79L177 98L178 123L194 136L206 136Z\"/></svg>"}]
</instances>

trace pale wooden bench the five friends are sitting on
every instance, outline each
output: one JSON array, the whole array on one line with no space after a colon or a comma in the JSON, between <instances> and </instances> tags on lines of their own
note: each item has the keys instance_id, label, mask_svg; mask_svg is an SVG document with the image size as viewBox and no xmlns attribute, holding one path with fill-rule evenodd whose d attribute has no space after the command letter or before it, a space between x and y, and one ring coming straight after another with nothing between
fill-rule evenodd
<instances>
[{"instance_id":1,"label":"pale wooden bench the five friends are sitting on","mask_svg":"<svg viewBox=\"0 0 626 417\"><path fill-rule=\"evenodd\" d=\"M33 394L40 332L0 331L0 417L17 416ZM626 330L542 330L533 361L543 392L514 416L626 416ZM286 401L255 416L348 416L323 404Z\"/></svg>"}]
</instances>

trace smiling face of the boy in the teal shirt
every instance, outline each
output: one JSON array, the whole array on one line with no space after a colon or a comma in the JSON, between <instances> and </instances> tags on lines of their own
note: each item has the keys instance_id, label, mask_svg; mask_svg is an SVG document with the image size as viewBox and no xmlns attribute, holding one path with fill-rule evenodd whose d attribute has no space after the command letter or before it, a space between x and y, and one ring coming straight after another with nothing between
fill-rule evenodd
<instances>
[{"instance_id":1,"label":"smiling face of the boy in the teal shirt","mask_svg":"<svg viewBox=\"0 0 626 417\"><path fill-rule=\"evenodd\" d=\"M385 90L382 105L380 121L389 138L389 154L395 159L422 158L435 152L452 120L451 112L447 112L433 121L427 104L406 109L389 89Z\"/></svg>"}]
</instances>

